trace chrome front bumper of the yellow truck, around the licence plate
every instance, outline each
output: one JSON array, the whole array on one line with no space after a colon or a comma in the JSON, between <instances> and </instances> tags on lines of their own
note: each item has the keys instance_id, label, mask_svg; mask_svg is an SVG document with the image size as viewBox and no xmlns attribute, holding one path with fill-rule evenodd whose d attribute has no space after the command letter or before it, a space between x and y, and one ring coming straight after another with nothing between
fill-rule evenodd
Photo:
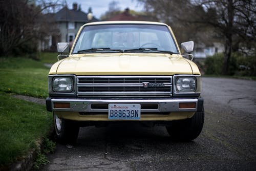
<instances>
[{"instance_id":1,"label":"chrome front bumper of the yellow truck, around the licence plate","mask_svg":"<svg viewBox=\"0 0 256 171\"><path fill-rule=\"evenodd\" d=\"M70 103L69 109L54 108L54 103ZM198 111L199 100L198 99L155 99L155 100L99 100L99 99L55 99L47 98L47 110L58 111L58 112L108 112L107 108L97 109L92 108L93 104L110 104L110 103L132 103L132 104L152 104L157 106L155 109L141 109L141 112L153 112L153 113L163 113L163 112L196 112ZM195 108L180 109L180 103L196 103Z\"/></svg>"}]
</instances>

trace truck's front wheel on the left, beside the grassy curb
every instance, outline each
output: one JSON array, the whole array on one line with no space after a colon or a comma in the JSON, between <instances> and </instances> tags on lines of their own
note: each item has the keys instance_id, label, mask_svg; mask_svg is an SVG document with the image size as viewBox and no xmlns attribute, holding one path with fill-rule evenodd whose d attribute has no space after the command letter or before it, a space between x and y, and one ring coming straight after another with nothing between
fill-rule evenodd
<instances>
[{"instance_id":1,"label":"truck's front wheel on the left, beside the grassy curb","mask_svg":"<svg viewBox=\"0 0 256 171\"><path fill-rule=\"evenodd\" d=\"M74 144L80 129L75 121L58 118L56 114L53 114L53 119L58 142Z\"/></svg>"}]
</instances>

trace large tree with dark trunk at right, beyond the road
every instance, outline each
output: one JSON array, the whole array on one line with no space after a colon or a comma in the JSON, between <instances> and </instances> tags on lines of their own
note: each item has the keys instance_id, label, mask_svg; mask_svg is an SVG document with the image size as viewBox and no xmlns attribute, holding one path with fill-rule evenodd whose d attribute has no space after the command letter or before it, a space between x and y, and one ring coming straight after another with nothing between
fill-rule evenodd
<instances>
[{"instance_id":1,"label":"large tree with dark trunk at right, beyond the road","mask_svg":"<svg viewBox=\"0 0 256 171\"><path fill-rule=\"evenodd\" d=\"M256 4L252 0L203 0L197 5L202 6L206 12L214 11L214 15L197 16L191 22L214 27L224 37L222 72L227 75L234 40L239 39L241 42L237 46L241 47L255 40Z\"/></svg>"}]
</instances>

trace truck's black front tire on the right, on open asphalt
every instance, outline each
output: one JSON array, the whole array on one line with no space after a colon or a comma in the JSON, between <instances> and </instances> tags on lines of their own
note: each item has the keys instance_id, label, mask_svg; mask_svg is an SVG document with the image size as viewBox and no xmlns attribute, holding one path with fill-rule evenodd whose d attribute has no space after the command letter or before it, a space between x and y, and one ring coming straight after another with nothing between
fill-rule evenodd
<instances>
[{"instance_id":1,"label":"truck's black front tire on the right, on open asphalt","mask_svg":"<svg viewBox=\"0 0 256 171\"><path fill-rule=\"evenodd\" d=\"M166 126L166 130L173 140L191 141L196 139L204 124L204 109L201 112L196 112L189 119L174 122L172 126Z\"/></svg>"}]
</instances>

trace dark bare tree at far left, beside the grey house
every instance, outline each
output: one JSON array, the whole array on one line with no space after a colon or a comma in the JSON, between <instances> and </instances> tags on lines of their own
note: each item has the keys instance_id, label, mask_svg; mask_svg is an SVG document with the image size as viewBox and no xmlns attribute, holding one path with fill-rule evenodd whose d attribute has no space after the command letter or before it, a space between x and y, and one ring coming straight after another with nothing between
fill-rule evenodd
<instances>
[{"instance_id":1,"label":"dark bare tree at far left, beside the grey house","mask_svg":"<svg viewBox=\"0 0 256 171\"><path fill-rule=\"evenodd\" d=\"M54 7L51 1L5 1L0 6L0 55L37 51L37 42L47 31L42 11Z\"/></svg>"}]
</instances>

